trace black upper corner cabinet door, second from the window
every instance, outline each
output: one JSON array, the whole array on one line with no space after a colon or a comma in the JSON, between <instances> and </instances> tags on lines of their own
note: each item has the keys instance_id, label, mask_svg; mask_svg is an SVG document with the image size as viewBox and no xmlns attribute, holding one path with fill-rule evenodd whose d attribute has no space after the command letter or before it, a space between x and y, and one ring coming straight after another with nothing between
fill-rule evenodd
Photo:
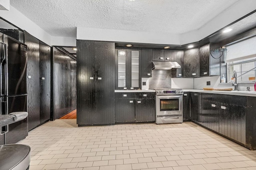
<instances>
[{"instance_id":1,"label":"black upper corner cabinet door, second from the window","mask_svg":"<svg viewBox=\"0 0 256 170\"><path fill-rule=\"evenodd\" d=\"M199 50L198 48L184 51L184 77L199 76Z\"/></svg>"}]
</instances>

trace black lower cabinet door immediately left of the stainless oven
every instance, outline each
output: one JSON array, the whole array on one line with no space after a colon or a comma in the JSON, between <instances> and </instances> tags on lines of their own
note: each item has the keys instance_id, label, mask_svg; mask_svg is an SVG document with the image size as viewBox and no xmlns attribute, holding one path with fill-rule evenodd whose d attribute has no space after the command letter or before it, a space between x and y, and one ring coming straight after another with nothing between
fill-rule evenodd
<instances>
[{"instance_id":1,"label":"black lower cabinet door immediately left of the stainless oven","mask_svg":"<svg viewBox=\"0 0 256 170\"><path fill-rule=\"evenodd\" d=\"M135 122L156 121L155 99L135 100Z\"/></svg>"}]
</instances>

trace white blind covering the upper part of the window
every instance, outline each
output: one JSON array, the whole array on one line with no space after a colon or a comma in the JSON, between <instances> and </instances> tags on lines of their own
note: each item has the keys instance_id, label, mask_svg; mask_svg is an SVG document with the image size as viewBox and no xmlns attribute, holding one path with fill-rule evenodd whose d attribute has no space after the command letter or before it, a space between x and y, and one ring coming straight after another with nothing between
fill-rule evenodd
<instances>
[{"instance_id":1,"label":"white blind covering the upper part of the window","mask_svg":"<svg viewBox=\"0 0 256 170\"><path fill-rule=\"evenodd\" d=\"M228 45L226 48L226 62L256 57L256 36L242 42Z\"/></svg>"}]
</instances>

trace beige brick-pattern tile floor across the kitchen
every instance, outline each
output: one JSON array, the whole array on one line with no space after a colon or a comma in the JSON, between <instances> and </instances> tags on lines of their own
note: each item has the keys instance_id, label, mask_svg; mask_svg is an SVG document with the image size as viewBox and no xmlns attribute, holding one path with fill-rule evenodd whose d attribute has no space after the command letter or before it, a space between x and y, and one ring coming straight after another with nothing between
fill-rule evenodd
<instances>
[{"instance_id":1,"label":"beige brick-pattern tile floor across the kitchen","mask_svg":"<svg viewBox=\"0 0 256 170\"><path fill-rule=\"evenodd\" d=\"M31 130L30 170L256 170L248 150L194 123L77 127L59 119Z\"/></svg>"}]
</instances>

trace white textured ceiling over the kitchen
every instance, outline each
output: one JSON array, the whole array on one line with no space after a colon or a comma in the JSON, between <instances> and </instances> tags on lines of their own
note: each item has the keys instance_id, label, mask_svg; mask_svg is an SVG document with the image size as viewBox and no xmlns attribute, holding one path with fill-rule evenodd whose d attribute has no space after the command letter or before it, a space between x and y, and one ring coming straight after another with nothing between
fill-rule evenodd
<instances>
[{"instance_id":1,"label":"white textured ceiling over the kitchen","mask_svg":"<svg viewBox=\"0 0 256 170\"><path fill-rule=\"evenodd\" d=\"M238 0L10 0L52 36L76 27L182 34L197 30Z\"/></svg>"}]
</instances>

